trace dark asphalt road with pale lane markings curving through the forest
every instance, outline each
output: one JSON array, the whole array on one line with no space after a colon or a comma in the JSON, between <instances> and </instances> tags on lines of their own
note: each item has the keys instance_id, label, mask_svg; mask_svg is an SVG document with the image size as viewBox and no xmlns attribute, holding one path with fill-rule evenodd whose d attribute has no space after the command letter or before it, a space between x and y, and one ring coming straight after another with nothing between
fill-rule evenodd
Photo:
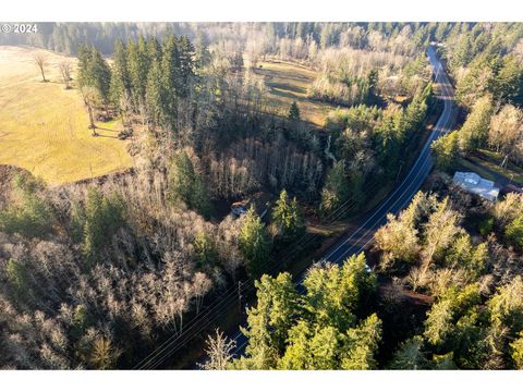
<instances>
[{"instance_id":1,"label":"dark asphalt road with pale lane markings curving through the forest","mask_svg":"<svg viewBox=\"0 0 523 392\"><path fill-rule=\"evenodd\" d=\"M376 230L387 222L387 215L396 215L409 206L412 198L430 173L434 167L434 160L430 156L430 145L438 137L452 130L457 107L454 106L454 90L441 61L433 47L428 49L427 56L433 66L434 79L439 85L440 97L443 99L443 111L441 112L441 115L425 142L419 157L406 176L404 176L403 181L387 195L381 204L370 210L362 219L362 224L358 225L356 230L348 233L345 237L341 238L329 250L327 250L321 259L323 261L341 265L348 257L361 253L373 240ZM299 280L300 285L302 281L303 278ZM236 342L234 354L243 354L247 344L246 338L241 332L238 332L234 335L234 340Z\"/></svg>"}]
</instances>

